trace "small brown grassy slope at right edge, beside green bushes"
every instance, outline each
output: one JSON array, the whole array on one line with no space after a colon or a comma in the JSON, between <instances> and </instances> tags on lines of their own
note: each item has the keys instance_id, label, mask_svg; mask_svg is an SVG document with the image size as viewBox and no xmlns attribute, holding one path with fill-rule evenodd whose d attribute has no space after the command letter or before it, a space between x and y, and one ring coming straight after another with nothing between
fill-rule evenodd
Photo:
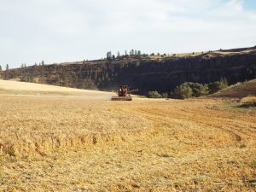
<instances>
[{"instance_id":1,"label":"small brown grassy slope at right edge, beside green bushes","mask_svg":"<svg viewBox=\"0 0 256 192\"><path fill-rule=\"evenodd\" d=\"M237 83L230 86L228 89L221 90L212 96L224 96L224 97L235 97L242 98L245 96L256 96L256 79Z\"/></svg>"}]
</instances>

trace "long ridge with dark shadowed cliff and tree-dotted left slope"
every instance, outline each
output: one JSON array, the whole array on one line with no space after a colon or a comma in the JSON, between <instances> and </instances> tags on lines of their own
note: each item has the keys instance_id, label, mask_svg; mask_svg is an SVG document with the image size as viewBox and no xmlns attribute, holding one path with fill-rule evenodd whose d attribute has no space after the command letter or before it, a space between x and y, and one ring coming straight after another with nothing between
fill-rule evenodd
<instances>
[{"instance_id":1,"label":"long ridge with dark shadowed cliff and tree-dotted left slope","mask_svg":"<svg viewBox=\"0 0 256 192\"><path fill-rule=\"evenodd\" d=\"M1 79L79 89L115 90L130 84L140 95L170 92L183 82L206 84L225 77L236 84L256 77L256 47L173 55L122 55L114 59L20 67Z\"/></svg>"}]
</instances>

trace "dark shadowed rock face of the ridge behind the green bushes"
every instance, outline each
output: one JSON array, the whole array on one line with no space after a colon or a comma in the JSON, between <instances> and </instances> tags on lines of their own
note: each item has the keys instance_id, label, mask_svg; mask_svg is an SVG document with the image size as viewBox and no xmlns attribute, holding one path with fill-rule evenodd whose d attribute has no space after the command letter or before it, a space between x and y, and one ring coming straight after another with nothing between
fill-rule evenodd
<instances>
[{"instance_id":1,"label":"dark shadowed rock face of the ridge behind the green bushes","mask_svg":"<svg viewBox=\"0 0 256 192\"><path fill-rule=\"evenodd\" d=\"M256 54L193 57L178 60L147 61L139 67L119 72L119 84L131 84L143 93L165 92L183 82L210 83L225 77L230 84L255 78ZM122 78L122 79L121 79Z\"/></svg>"}]
</instances>

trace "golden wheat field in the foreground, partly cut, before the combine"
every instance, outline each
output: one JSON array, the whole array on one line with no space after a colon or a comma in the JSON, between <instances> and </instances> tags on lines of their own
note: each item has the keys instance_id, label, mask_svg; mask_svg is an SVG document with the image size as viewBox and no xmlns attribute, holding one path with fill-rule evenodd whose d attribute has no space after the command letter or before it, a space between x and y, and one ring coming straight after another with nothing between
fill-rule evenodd
<instances>
[{"instance_id":1,"label":"golden wheat field in the foreground, partly cut, before the combine","mask_svg":"<svg viewBox=\"0 0 256 192\"><path fill-rule=\"evenodd\" d=\"M20 94L0 95L0 191L256 189L256 112L236 99Z\"/></svg>"}]
</instances>

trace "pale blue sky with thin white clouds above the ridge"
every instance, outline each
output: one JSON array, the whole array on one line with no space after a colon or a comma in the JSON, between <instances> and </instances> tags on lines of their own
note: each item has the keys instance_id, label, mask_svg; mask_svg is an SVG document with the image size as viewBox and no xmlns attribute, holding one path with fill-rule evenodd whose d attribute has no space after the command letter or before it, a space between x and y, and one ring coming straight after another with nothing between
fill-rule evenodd
<instances>
[{"instance_id":1,"label":"pale blue sky with thin white clouds above the ridge","mask_svg":"<svg viewBox=\"0 0 256 192\"><path fill-rule=\"evenodd\" d=\"M2 67L255 45L255 0L0 0Z\"/></svg>"}]
</instances>

